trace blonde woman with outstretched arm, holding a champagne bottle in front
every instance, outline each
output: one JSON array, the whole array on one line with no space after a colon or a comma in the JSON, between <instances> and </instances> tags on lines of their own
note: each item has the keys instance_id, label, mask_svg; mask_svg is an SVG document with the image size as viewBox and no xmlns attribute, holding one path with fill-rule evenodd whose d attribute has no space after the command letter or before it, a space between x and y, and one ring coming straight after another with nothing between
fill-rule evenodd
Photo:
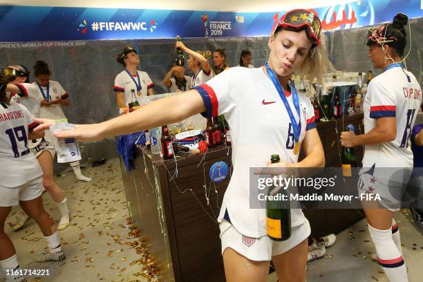
<instances>
[{"instance_id":1,"label":"blonde woman with outstretched arm, holding a champagne bottle in front","mask_svg":"<svg viewBox=\"0 0 423 282\"><path fill-rule=\"evenodd\" d=\"M230 68L192 91L152 102L140 111L107 122L77 125L57 137L95 140L169 124L196 113L206 117L223 114L232 134L234 164L218 216L226 281L267 281L271 260L281 281L306 281L308 220L301 209L292 209L292 236L287 241L272 241L267 236L265 209L250 209L249 176L250 167L266 166L274 153L281 156L281 162L272 167L324 166L312 104L290 82L294 72L309 81L316 77L323 82L330 63L320 31L321 23L314 12L292 10L282 17L270 37L266 66ZM50 124L48 121L40 129ZM306 156L301 162L299 144Z\"/></svg>"}]
</instances>

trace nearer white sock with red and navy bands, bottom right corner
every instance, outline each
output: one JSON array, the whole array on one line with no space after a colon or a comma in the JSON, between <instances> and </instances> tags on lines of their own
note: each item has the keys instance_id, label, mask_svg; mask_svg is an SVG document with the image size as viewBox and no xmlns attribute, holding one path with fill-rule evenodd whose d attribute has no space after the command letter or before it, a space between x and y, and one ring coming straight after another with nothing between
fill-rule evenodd
<instances>
[{"instance_id":1,"label":"nearer white sock with red and navy bands, bottom right corner","mask_svg":"<svg viewBox=\"0 0 423 282\"><path fill-rule=\"evenodd\" d=\"M391 282L408 282L407 269L392 238L392 229L379 230L368 225L370 237L376 247L377 260Z\"/></svg>"}]
</instances>

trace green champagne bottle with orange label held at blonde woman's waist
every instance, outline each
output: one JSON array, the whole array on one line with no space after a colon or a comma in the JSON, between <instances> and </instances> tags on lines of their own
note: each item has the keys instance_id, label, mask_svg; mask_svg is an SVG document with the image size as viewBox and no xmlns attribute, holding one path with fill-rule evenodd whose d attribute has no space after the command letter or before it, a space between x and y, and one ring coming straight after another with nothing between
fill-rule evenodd
<instances>
[{"instance_id":1,"label":"green champagne bottle with orange label held at blonde woman's waist","mask_svg":"<svg viewBox=\"0 0 423 282\"><path fill-rule=\"evenodd\" d=\"M279 162L281 159L279 155L272 155L270 162L272 164ZM267 200L266 202L266 226L267 236L273 241L285 241L291 236L291 209L288 194L286 190L281 187L277 192L274 192L276 187L269 187L269 194L279 194L278 196L285 196L285 199L279 201ZM273 193L272 193L273 192ZM276 195L274 195L276 196ZM281 206L283 208L281 208Z\"/></svg>"}]
</instances>

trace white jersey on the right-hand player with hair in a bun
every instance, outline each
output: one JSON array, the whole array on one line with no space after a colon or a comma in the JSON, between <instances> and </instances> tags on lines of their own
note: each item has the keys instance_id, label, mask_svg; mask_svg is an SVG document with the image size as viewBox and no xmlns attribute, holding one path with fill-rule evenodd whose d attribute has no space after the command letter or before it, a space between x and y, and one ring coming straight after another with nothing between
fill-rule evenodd
<instances>
[{"instance_id":1,"label":"white jersey on the right-hand player with hair in a bun","mask_svg":"<svg viewBox=\"0 0 423 282\"><path fill-rule=\"evenodd\" d=\"M412 73L395 67L372 79L364 99L364 131L372 130L377 118L393 117L397 135L391 142L366 145L363 167L413 167L410 135L420 104L422 89Z\"/></svg>"}]
</instances>

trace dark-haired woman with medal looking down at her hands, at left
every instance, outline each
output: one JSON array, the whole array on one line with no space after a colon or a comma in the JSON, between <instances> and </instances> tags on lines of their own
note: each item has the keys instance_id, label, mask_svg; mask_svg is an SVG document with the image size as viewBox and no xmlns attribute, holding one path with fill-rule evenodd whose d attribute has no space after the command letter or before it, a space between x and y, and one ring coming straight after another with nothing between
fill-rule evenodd
<instances>
[{"instance_id":1,"label":"dark-haired woman with medal looking down at her hands, at left","mask_svg":"<svg viewBox=\"0 0 423 282\"><path fill-rule=\"evenodd\" d=\"M70 100L68 93L64 91L64 88L59 84L59 82L50 80L51 72L48 69L46 62L37 61L35 63L34 75L37 81L32 84L37 87L39 91L39 99L41 100L40 118L65 120L66 115L64 115L62 106L69 106ZM55 142L55 137L49 130L46 131L44 139L52 144ZM77 180L91 181L91 178L82 174L81 167L79 166L79 160L71 162L70 165Z\"/></svg>"}]
</instances>

